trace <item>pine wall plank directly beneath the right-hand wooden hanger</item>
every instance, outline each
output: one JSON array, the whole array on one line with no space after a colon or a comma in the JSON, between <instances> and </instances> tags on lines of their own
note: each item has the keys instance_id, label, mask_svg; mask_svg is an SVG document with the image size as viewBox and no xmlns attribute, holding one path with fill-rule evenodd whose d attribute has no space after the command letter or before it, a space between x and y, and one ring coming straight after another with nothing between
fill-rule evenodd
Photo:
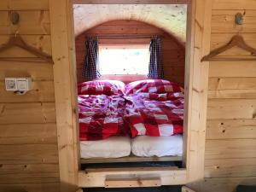
<instances>
[{"instance_id":1,"label":"pine wall plank directly beneath the right-hand wooden hanger","mask_svg":"<svg viewBox=\"0 0 256 192\"><path fill-rule=\"evenodd\" d=\"M212 61L209 77L255 78L255 61Z\"/></svg>"}]
</instances>

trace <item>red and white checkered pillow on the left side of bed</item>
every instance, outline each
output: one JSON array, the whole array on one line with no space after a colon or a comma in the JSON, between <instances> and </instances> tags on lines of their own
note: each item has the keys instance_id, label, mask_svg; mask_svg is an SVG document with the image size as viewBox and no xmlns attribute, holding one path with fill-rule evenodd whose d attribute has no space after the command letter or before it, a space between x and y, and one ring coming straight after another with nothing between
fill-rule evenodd
<instances>
[{"instance_id":1,"label":"red and white checkered pillow on the left side of bed","mask_svg":"<svg viewBox=\"0 0 256 192\"><path fill-rule=\"evenodd\" d=\"M78 85L79 95L124 95L125 84L117 80L95 80Z\"/></svg>"}]
</instances>

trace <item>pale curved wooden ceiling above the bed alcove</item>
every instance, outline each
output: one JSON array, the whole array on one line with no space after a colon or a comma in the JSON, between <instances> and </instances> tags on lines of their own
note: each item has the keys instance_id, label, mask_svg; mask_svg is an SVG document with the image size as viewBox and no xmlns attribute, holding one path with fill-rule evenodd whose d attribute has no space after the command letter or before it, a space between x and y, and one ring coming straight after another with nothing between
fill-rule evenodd
<instances>
[{"instance_id":1,"label":"pale curved wooden ceiling above the bed alcove","mask_svg":"<svg viewBox=\"0 0 256 192\"><path fill-rule=\"evenodd\" d=\"M74 31L78 36L110 20L138 20L186 40L186 4L74 4Z\"/></svg>"}]
</instances>

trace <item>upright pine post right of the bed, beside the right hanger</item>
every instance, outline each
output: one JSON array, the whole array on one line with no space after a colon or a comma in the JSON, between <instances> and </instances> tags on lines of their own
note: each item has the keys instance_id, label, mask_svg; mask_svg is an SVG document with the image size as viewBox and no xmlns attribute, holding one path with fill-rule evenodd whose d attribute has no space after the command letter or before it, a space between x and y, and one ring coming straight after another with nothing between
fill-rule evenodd
<instances>
[{"instance_id":1,"label":"upright pine post right of the bed, beside the right hanger","mask_svg":"<svg viewBox=\"0 0 256 192\"><path fill-rule=\"evenodd\" d=\"M212 0L190 4L185 67L184 138L188 185L200 190L204 178L207 90L209 62L201 58L210 51Z\"/></svg>"}]
</instances>

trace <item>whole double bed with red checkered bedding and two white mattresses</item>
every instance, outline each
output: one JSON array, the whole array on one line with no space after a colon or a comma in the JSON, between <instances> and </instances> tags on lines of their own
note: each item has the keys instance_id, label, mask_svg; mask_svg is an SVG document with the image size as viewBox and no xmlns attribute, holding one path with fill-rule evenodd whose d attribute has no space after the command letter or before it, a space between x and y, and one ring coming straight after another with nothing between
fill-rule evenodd
<instances>
[{"instance_id":1,"label":"whole double bed with red checkered bedding and two white mattresses","mask_svg":"<svg viewBox=\"0 0 256 192\"><path fill-rule=\"evenodd\" d=\"M154 79L79 84L82 163L182 160L183 90Z\"/></svg>"}]
</instances>

